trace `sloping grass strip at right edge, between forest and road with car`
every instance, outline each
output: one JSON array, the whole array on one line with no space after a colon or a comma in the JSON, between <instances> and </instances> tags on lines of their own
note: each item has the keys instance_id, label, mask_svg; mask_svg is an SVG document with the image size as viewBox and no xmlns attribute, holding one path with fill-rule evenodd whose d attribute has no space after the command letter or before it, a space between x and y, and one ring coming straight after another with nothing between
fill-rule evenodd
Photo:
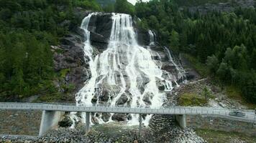
<instances>
[{"instance_id":1,"label":"sloping grass strip at right edge, between forest and road with car","mask_svg":"<svg viewBox=\"0 0 256 143\"><path fill-rule=\"evenodd\" d=\"M242 96L242 93L239 89L231 86L224 87L224 89L229 99L237 100L240 104L248 107L249 109L256 109L256 104L247 102L246 99L244 99L244 97Z\"/></svg>"}]
</instances>

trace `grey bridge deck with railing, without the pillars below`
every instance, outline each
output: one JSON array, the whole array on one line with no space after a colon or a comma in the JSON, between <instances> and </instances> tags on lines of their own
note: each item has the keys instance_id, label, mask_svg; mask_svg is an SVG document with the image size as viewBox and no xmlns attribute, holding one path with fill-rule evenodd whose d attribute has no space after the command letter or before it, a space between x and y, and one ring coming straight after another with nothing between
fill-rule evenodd
<instances>
[{"instance_id":1,"label":"grey bridge deck with railing, without the pillars below","mask_svg":"<svg viewBox=\"0 0 256 143\"><path fill-rule=\"evenodd\" d=\"M0 103L0 109L12 110L46 110L63 112L105 112L105 113L128 113L128 114L203 114L210 117L221 117L243 122L255 122L254 110L240 110L245 113L244 117L230 116L229 112L237 109L220 109L213 107L168 107L168 108L132 108L132 107L103 107L103 106L76 106L73 104L40 104L40 103Z\"/></svg>"}]
</instances>

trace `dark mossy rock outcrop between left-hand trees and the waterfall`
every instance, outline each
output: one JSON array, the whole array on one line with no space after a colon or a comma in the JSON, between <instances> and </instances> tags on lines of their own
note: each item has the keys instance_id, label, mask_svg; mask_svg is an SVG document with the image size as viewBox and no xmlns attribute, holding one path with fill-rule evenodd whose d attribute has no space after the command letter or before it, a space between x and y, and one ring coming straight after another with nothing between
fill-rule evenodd
<instances>
[{"instance_id":1,"label":"dark mossy rock outcrop between left-hand trees and the waterfall","mask_svg":"<svg viewBox=\"0 0 256 143\"><path fill-rule=\"evenodd\" d=\"M54 69L61 77L55 81L58 91L63 92L61 102L73 102L74 94L91 77L83 53L83 41L83 30L76 27L60 41L60 46L52 46ZM68 91L71 87L72 91Z\"/></svg>"}]
</instances>

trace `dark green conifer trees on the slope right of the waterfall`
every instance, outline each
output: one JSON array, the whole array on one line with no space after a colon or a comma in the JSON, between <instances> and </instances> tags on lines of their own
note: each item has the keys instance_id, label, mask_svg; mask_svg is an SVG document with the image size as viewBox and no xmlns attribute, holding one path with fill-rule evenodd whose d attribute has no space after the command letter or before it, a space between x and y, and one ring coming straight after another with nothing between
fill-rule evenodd
<instances>
[{"instance_id":1,"label":"dark green conifer trees on the slope right of the waterfall","mask_svg":"<svg viewBox=\"0 0 256 143\"><path fill-rule=\"evenodd\" d=\"M210 72L214 80L239 88L245 99L256 103L256 10L192 14L178 9L226 1L152 0L137 3L135 9L143 19L140 25L154 29L161 44L186 53L201 75Z\"/></svg>"}]
</instances>

